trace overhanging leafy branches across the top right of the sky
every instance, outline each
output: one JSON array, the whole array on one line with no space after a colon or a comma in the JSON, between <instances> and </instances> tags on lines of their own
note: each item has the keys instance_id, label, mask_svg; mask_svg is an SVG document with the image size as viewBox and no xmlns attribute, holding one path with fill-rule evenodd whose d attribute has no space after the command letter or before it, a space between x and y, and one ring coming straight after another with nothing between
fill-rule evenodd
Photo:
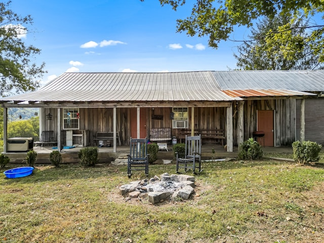
<instances>
[{"instance_id":1,"label":"overhanging leafy branches across the top right of the sky","mask_svg":"<svg viewBox=\"0 0 324 243\"><path fill-rule=\"evenodd\" d=\"M144 0L141 0L142 2ZM159 0L162 6L170 5L174 10L186 3L185 0ZM306 18L315 14L322 16L324 4L322 0L196 0L190 16L177 20L177 31L193 36L209 36L209 46L217 48L220 41L229 39L234 27L253 26L253 22L262 17L274 18L286 13L303 13ZM323 16L322 16L323 17ZM308 37L313 40L310 46L318 61L324 62L324 25L308 26ZM274 30L285 32L285 28Z\"/></svg>"}]
</instances>

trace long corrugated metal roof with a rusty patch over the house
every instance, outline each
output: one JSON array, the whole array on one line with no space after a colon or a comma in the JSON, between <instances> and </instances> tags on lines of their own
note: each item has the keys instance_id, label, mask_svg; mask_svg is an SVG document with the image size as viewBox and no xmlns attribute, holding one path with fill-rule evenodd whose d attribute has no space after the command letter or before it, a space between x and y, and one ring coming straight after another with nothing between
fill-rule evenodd
<instances>
[{"instance_id":1,"label":"long corrugated metal roof with a rusty patch over the house","mask_svg":"<svg viewBox=\"0 0 324 243\"><path fill-rule=\"evenodd\" d=\"M2 102L231 101L324 91L324 70L63 73L41 89Z\"/></svg>"}]
</instances>

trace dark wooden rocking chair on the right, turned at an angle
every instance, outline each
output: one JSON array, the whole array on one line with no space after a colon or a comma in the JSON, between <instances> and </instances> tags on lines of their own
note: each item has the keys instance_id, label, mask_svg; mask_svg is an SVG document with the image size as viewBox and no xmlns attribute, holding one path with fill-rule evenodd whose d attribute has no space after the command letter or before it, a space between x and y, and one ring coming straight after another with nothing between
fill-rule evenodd
<instances>
[{"instance_id":1,"label":"dark wooden rocking chair on the right, turned at an angle","mask_svg":"<svg viewBox=\"0 0 324 243\"><path fill-rule=\"evenodd\" d=\"M192 170L196 174L195 169L198 169L198 173L201 171L201 135L198 136L187 136L185 141L185 154L179 156L179 153L176 153L177 173L184 173L189 170ZM184 172L179 172L179 170L184 170Z\"/></svg>"}]
</instances>

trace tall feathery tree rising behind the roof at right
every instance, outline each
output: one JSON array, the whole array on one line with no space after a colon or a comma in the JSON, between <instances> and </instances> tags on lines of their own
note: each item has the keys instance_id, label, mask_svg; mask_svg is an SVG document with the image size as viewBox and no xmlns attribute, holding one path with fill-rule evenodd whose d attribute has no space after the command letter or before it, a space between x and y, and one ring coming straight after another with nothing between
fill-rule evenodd
<instances>
[{"instance_id":1,"label":"tall feathery tree rising behind the roof at right","mask_svg":"<svg viewBox=\"0 0 324 243\"><path fill-rule=\"evenodd\" d=\"M249 39L240 45L234 54L237 67L244 70L290 70L320 68L318 56L312 51L308 38L307 21L304 16L294 18L290 13L264 18L252 28ZM289 29L281 33L274 30ZM285 36L282 36L282 35Z\"/></svg>"}]
</instances>

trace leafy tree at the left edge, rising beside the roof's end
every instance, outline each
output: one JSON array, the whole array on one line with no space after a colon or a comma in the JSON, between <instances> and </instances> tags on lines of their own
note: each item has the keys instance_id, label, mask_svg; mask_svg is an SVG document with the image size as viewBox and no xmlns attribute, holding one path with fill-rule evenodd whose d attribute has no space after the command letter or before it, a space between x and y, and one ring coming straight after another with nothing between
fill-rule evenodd
<instances>
[{"instance_id":1,"label":"leafy tree at the left edge, rising beside the roof's end","mask_svg":"<svg viewBox=\"0 0 324 243\"><path fill-rule=\"evenodd\" d=\"M41 52L25 45L22 37L32 24L30 15L22 17L10 9L10 2L0 3L0 94L32 91L39 87L45 64L37 66L33 57Z\"/></svg>"}]
</instances>

